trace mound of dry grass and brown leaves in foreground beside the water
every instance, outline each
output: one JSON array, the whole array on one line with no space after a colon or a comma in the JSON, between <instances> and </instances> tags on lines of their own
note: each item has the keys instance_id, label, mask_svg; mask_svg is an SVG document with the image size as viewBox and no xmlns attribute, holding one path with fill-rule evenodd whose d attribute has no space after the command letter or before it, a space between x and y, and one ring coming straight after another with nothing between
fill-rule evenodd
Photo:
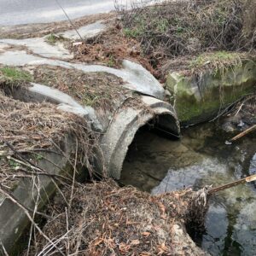
<instances>
[{"instance_id":1,"label":"mound of dry grass and brown leaves in foreground beside the water","mask_svg":"<svg viewBox=\"0 0 256 256\"><path fill-rule=\"evenodd\" d=\"M67 199L70 191L63 190ZM52 219L43 231L52 242L38 235L24 255L203 255L187 236L172 233L188 218L192 195L184 190L151 196L111 180L76 184L68 211L61 195L49 207Z\"/></svg>"}]
</instances>

